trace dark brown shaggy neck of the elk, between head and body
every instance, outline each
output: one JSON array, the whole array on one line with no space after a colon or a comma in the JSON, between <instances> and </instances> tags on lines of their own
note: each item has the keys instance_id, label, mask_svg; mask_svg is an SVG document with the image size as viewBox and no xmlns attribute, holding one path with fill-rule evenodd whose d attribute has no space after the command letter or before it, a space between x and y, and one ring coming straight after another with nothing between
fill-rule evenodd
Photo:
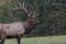
<instances>
[{"instance_id":1,"label":"dark brown shaggy neck of the elk, between head and body","mask_svg":"<svg viewBox=\"0 0 66 44\"><path fill-rule=\"evenodd\" d=\"M34 22L32 20L30 20L30 21L28 20L28 21L23 22L23 26L24 26L24 30L25 30L24 34L28 34L32 31L32 28L34 26L33 23Z\"/></svg>"}]
</instances>

